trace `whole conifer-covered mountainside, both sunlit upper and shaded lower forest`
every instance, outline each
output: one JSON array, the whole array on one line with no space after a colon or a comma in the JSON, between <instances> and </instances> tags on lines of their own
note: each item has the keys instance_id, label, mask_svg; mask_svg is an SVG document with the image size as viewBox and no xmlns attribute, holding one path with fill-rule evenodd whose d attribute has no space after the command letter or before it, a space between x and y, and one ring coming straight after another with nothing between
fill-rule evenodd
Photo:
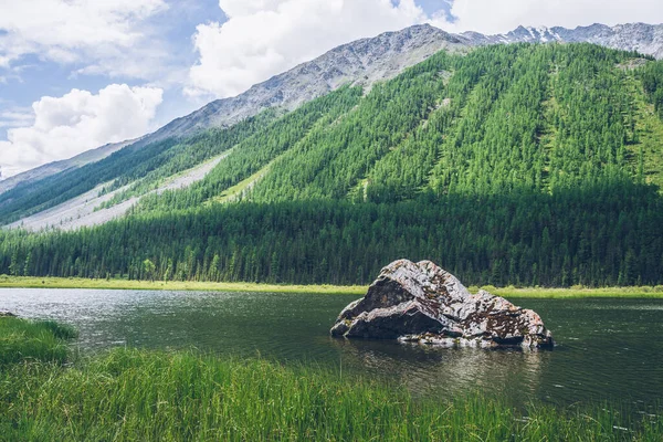
<instances>
[{"instance_id":1,"label":"whole conifer-covered mountainside, both sunlit upper and shaded lower forest","mask_svg":"<svg viewBox=\"0 0 663 442\"><path fill-rule=\"evenodd\" d=\"M87 187L134 182L112 204L182 161L225 155L126 219L3 231L0 273L366 283L408 256L470 283L660 284L662 115L663 64L635 53L440 52L367 95L346 86L199 144L166 143L151 181L129 164L81 175L95 177ZM198 146L209 154L187 162ZM11 204L4 222L24 210Z\"/></svg>"}]
</instances>

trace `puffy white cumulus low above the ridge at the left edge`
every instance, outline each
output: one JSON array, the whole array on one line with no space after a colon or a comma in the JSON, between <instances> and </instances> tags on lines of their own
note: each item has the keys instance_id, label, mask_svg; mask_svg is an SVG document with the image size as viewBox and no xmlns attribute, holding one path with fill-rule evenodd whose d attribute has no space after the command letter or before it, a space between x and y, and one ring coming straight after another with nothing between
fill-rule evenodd
<instances>
[{"instance_id":1,"label":"puffy white cumulus low above the ridge at the left edge","mask_svg":"<svg viewBox=\"0 0 663 442\"><path fill-rule=\"evenodd\" d=\"M160 88L126 84L112 84L96 95L72 90L62 97L44 96L32 105L32 123L9 129L8 141L0 141L3 178L141 136L151 128L161 99ZM25 122L18 113L7 117Z\"/></svg>"}]
</instances>

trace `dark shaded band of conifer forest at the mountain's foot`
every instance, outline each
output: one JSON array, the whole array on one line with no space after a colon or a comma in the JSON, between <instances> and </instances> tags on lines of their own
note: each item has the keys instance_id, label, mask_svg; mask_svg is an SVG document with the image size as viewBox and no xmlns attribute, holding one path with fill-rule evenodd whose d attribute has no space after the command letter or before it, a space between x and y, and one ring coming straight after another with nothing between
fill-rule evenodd
<instances>
[{"instance_id":1,"label":"dark shaded band of conifer forest at the mountain's foot","mask_svg":"<svg viewBox=\"0 0 663 442\"><path fill-rule=\"evenodd\" d=\"M398 203L238 202L76 232L0 233L0 274L367 284L430 259L465 284L661 284L663 200L618 181L555 194L432 194Z\"/></svg>"}]
</instances>

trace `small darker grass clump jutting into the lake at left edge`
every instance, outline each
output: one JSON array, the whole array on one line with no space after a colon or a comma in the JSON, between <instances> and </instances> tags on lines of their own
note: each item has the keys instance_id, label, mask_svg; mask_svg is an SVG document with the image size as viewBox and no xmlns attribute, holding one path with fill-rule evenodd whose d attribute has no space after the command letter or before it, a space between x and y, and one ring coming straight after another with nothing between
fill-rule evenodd
<instances>
[{"instance_id":1,"label":"small darker grass clump jutting into the lake at left edge","mask_svg":"<svg viewBox=\"0 0 663 442\"><path fill-rule=\"evenodd\" d=\"M0 317L0 369L27 360L63 364L76 332L51 320Z\"/></svg>"}]
</instances>

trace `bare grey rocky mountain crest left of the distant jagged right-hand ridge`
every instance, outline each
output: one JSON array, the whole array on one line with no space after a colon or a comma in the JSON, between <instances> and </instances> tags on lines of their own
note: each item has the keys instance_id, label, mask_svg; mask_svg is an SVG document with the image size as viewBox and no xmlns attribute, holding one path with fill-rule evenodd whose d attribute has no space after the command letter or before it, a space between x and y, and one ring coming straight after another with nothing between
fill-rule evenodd
<instances>
[{"instance_id":1,"label":"bare grey rocky mountain crest left of the distant jagged right-hand ridge","mask_svg":"<svg viewBox=\"0 0 663 442\"><path fill-rule=\"evenodd\" d=\"M463 51L467 42L430 25L415 25L338 46L251 87L235 97L217 99L138 140L103 146L69 160L56 161L0 181L0 193L23 183L30 186L52 175L98 161L122 147L139 149L169 138L185 138L212 127L228 127L267 108L292 110L344 84L370 87L438 51Z\"/></svg>"}]
</instances>

